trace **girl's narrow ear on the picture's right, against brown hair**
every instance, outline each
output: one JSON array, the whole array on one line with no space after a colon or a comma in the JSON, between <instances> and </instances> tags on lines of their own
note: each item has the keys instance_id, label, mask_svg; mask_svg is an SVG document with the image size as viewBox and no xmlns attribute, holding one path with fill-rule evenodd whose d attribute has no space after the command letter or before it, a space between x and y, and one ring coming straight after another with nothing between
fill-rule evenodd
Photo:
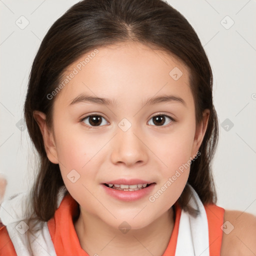
<instances>
[{"instance_id":1,"label":"girl's narrow ear on the picture's right, against brown hair","mask_svg":"<svg viewBox=\"0 0 256 256\"><path fill-rule=\"evenodd\" d=\"M193 141L193 146L192 146L192 151L191 151L191 157L196 155L197 151L199 150L199 147L202 143L207 124L208 124L208 119L209 119L209 109L204 109L202 112L202 120L201 122L197 125L195 129L195 134L194 134L194 141Z\"/></svg>"}]
</instances>

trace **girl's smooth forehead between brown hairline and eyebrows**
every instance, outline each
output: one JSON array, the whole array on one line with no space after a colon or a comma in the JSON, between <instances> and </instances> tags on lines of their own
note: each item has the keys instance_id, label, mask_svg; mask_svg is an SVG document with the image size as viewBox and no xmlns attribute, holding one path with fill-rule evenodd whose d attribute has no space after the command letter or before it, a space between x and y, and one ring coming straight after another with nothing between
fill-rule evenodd
<instances>
[{"instance_id":1,"label":"girl's smooth forehead between brown hairline and eyebrows","mask_svg":"<svg viewBox=\"0 0 256 256\"><path fill-rule=\"evenodd\" d=\"M191 94L188 68L173 54L140 42L92 49L68 66L64 79L56 100L66 105L81 92L120 102L158 92Z\"/></svg>"}]
</instances>

